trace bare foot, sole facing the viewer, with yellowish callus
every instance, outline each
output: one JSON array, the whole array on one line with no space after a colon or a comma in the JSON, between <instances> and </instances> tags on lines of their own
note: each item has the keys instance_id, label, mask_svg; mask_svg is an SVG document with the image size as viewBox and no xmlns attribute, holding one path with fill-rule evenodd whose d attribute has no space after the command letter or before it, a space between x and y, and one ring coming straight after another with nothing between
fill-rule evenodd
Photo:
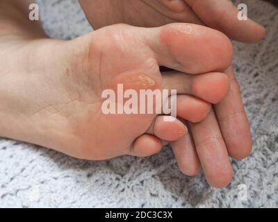
<instances>
[{"instance_id":1,"label":"bare foot, sole facing the viewer, with yellowish callus","mask_svg":"<svg viewBox=\"0 0 278 222\"><path fill-rule=\"evenodd\" d=\"M192 95L179 97L178 115L195 121L209 111L204 101L218 103L229 91L215 71L229 67L231 44L197 25L109 26L71 41L5 33L0 47L0 135L84 159L151 155L186 133L156 114L104 114L105 89L177 89ZM161 74L159 65L188 74Z\"/></svg>"}]
</instances>

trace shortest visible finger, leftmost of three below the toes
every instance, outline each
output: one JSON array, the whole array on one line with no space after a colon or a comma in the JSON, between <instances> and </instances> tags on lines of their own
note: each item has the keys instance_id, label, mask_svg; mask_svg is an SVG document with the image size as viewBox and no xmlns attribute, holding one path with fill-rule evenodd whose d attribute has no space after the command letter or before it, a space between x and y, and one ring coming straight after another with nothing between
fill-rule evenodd
<instances>
[{"instance_id":1,"label":"shortest visible finger, leftmost of three below the toes","mask_svg":"<svg viewBox=\"0 0 278 222\"><path fill-rule=\"evenodd\" d=\"M181 172L187 176L197 175L201 170L201 164L191 133L188 132L181 139L171 142L171 146Z\"/></svg>"}]
</instances>

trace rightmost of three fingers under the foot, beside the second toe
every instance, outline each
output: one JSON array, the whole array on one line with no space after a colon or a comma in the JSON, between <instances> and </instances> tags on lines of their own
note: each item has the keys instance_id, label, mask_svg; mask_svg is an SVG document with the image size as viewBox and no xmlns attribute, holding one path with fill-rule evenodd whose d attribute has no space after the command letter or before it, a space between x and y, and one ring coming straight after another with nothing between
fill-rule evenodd
<instances>
[{"instance_id":1,"label":"rightmost of three fingers under the foot, beside the second toe","mask_svg":"<svg viewBox=\"0 0 278 222\"><path fill-rule=\"evenodd\" d=\"M215 105L215 113L229 155L236 159L243 159L250 155L252 149L250 124L232 67L227 69L227 76L231 80L231 89L224 100Z\"/></svg>"}]
</instances>

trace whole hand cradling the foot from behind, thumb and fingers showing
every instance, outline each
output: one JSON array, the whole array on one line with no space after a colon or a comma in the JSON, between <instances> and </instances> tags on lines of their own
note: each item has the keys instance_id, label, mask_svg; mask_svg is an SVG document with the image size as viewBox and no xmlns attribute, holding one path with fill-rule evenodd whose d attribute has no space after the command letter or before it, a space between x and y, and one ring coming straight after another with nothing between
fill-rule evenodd
<instances>
[{"instance_id":1,"label":"whole hand cradling the foot from behind, thumb and fingers showing","mask_svg":"<svg viewBox=\"0 0 278 222\"><path fill-rule=\"evenodd\" d=\"M238 10L229 0L80 0L90 24L101 28L115 23L162 26L172 22L203 24L234 40L257 42L265 31L252 20L237 19ZM231 90L200 123L189 123L190 134L172 143L183 173L193 176L200 163L208 183L224 187L231 181L228 155L242 159L250 154L250 126L232 67L227 69ZM186 145L186 146L185 146Z\"/></svg>"}]
</instances>

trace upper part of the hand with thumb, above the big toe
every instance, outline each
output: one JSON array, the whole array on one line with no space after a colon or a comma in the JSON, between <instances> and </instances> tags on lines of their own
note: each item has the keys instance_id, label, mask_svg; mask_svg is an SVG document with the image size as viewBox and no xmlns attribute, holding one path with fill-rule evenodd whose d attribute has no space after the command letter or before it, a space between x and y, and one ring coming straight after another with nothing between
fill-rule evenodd
<instances>
[{"instance_id":1,"label":"upper part of the hand with thumb, above the big toe","mask_svg":"<svg viewBox=\"0 0 278 222\"><path fill-rule=\"evenodd\" d=\"M237 19L238 10L229 0L79 0L95 28L126 23L155 27L172 22L204 24L240 42L257 42L264 28L252 20Z\"/></svg>"}]
</instances>

